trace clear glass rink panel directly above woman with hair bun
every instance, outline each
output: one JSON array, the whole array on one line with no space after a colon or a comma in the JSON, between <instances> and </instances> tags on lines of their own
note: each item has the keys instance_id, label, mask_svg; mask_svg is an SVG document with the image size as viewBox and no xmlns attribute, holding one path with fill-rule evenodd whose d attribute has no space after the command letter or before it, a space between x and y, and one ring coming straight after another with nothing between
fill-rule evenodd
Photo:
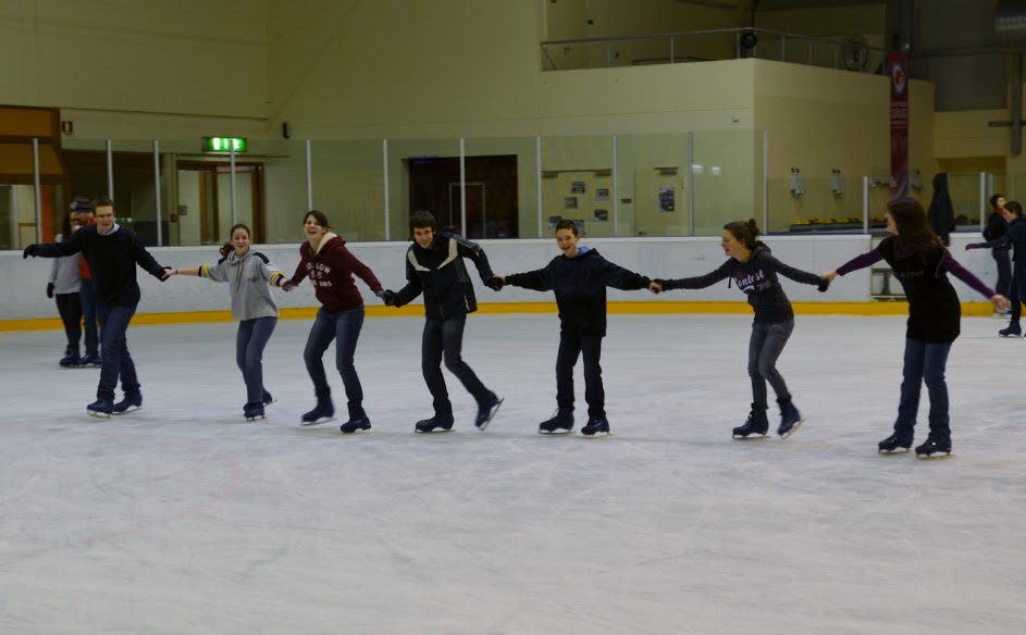
<instances>
[{"instance_id":1,"label":"clear glass rink panel directly above woman with hair bun","mask_svg":"<svg viewBox=\"0 0 1026 635\"><path fill-rule=\"evenodd\" d=\"M694 134L695 236L719 236L731 221L762 227L762 139L757 130Z\"/></svg>"}]
</instances>

